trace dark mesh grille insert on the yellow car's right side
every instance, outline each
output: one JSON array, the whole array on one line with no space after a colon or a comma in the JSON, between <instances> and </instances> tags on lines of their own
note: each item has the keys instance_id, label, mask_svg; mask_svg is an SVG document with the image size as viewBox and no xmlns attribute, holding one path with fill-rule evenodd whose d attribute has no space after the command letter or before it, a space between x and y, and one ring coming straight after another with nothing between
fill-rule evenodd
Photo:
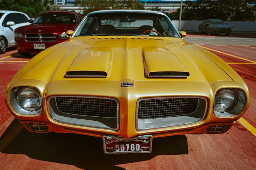
<instances>
[{"instance_id":1,"label":"dark mesh grille insert on the yellow car's right side","mask_svg":"<svg viewBox=\"0 0 256 170\"><path fill-rule=\"evenodd\" d=\"M152 119L191 114L197 110L198 98L154 98L141 99L138 118Z\"/></svg>"}]
</instances>

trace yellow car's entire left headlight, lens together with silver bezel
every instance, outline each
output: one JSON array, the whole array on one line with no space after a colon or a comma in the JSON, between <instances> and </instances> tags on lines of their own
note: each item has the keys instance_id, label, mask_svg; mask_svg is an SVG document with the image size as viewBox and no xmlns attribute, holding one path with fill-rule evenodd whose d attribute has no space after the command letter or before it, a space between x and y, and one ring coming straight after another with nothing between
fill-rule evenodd
<instances>
[{"instance_id":1,"label":"yellow car's entire left headlight, lens together with silver bezel","mask_svg":"<svg viewBox=\"0 0 256 170\"><path fill-rule=\"evenodd\" d=\"M12 89L10 103L14 111L21 115L39 115L42 112L41 95L34 87Z\"/></svg>"}]
</instances>

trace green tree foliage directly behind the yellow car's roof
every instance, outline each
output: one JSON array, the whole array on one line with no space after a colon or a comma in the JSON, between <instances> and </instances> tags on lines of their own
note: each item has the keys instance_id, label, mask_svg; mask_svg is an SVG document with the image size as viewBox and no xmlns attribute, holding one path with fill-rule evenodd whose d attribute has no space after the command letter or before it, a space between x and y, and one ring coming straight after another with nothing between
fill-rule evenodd
<instances>
[{"instance_id":1,"label":"green tree foliage directly behind the yellow car's roof","mask_svg":"<svg viewBox=\"0 0 256 170\"><path fill-rule=\"evenodd\" d=\"M76 1L76 4L83 7L84 16L90 12L98 10L143 9L143 5L136 0L80 0Z\"/></svg>"}]
</instances>

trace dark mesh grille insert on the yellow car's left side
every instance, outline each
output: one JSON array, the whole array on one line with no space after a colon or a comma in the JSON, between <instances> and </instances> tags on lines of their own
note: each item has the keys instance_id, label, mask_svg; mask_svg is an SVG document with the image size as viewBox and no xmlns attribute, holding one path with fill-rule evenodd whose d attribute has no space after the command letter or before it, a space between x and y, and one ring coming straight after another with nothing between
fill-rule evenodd
<instances>
[{"instance_id":1,"label":"dark mesh grille insert on the yellow car's left side","mask_svg":"<svg viewBox=\"0 0 256 170\"><path fill-rule=\"evenodd\" d=\"M93 97L56 97L59 111L84 116L108 117L117 116L117 102L110 98Z\"/></svg>"}]
</instances>

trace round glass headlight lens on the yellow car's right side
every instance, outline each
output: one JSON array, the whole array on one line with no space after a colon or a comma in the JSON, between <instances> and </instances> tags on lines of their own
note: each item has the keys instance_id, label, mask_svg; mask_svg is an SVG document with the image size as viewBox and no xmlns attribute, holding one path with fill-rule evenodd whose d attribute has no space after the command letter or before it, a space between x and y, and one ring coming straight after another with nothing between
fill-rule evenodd
<instances>
[{"instance_id":1,"label":"round glass headlight lens on the yellow car's right side","mask_svg":"<svg viewBox=\"0 0 256 170\"><path fill-rule=\"evenodd\" d=\"M217 112L228 112L237 103L237 93L233 89L221 89L217 91L214 100L214 110Z\"/></svg>"}]
</instances>

